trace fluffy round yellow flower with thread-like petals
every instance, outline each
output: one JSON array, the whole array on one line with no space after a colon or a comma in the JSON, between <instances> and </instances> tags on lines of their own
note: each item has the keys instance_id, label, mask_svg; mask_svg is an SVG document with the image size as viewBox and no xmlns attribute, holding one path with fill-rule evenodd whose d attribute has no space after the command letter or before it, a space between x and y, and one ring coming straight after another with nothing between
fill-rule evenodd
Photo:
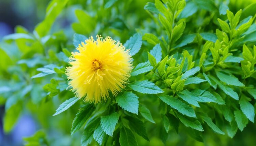
<instances>
[{"instance_id":1,"label":"fluffy round yellow flower with thread-like petals","mask_svg":"<svg viewBox=\"0 0 256 146\"><path fill-rule=\"evenodd\" d=\"M72 52L71 67L67 67L69 85L79 98L99 103L109 98L109 91L117 95L128 83L132 70L129 50L111 37L91 36Z\"/></svg>"}]
</instances>

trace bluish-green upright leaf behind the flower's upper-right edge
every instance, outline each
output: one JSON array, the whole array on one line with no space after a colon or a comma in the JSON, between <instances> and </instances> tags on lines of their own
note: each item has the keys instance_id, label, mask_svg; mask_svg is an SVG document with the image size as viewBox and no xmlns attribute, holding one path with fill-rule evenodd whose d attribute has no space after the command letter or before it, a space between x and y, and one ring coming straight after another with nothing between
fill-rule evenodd
<instances>
[{"instance_id":1,"label":"bluish-green upright leaf behind the flower's upper-right edge","mask_svg":"<svg viewBox=\"0 0 256 146\"><path fill-rule=\"evenodd\" d=\"M130 49L130 55L133 56L140 51L142 45L142 36L139 33L134 34L124 44L126 49Z\"/></svg>"}]
</instances>

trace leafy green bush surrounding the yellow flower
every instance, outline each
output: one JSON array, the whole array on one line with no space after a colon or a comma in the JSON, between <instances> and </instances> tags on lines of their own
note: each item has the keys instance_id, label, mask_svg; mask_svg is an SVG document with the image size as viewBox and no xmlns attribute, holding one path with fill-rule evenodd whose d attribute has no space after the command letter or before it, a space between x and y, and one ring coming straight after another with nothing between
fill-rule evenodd
<instances>
[{"instance_id":1,"label":"leafy green bush surrounding the yellow flower","mask_svg":"<svg viewBox=\"0 0 256 146\"><path fill-rule=\"evenodd\" d=\"M253 145L255 6L52 0L33 32L17 26L0 43L3 130L30 113L42 130L25 145ZM130 49L134 68L117 96L93 104L75 97L65 72L97 34Z\"/></svg>"}]
</instances>

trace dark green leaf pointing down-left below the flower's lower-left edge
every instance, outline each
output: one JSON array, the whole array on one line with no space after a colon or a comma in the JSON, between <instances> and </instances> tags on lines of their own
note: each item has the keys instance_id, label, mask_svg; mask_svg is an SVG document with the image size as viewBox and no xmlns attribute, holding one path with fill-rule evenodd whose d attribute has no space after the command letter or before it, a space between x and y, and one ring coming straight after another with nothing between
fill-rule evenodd
<instances>
[{"instance_id":1,"label":"dark green leaf pointing down-left below the flower's lower-left edge","mask_svg":"<svg viewBox=\"0 0 256 146\"><path fill-rule=\"evenodd\" d=\"M72 122L71 135L84 125L85 121L89 118L91 113L93 113L94 109L95 107L92 104L86 104L84 107L79 109Z\"/></svg>"}]
</instances>

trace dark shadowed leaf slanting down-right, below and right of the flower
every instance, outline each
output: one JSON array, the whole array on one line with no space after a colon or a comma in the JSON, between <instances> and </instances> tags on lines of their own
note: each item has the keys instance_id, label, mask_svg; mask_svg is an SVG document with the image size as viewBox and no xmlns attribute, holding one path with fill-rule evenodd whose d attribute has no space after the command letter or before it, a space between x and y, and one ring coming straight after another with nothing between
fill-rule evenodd
<instances>
[{"instance_id":1,"label":"dark shadowed leaf slanting down-right, below and right of the flower","mask_svg":"<svg viewBox=\"0 0 256 146\"><path fill-rule=\"evenodd\" d=\"M126 118L129 121L129 126L132 127L137 134L149 141L144 123L140 119L131 116L127 116Z\"/></svg>"}]
</instances>

